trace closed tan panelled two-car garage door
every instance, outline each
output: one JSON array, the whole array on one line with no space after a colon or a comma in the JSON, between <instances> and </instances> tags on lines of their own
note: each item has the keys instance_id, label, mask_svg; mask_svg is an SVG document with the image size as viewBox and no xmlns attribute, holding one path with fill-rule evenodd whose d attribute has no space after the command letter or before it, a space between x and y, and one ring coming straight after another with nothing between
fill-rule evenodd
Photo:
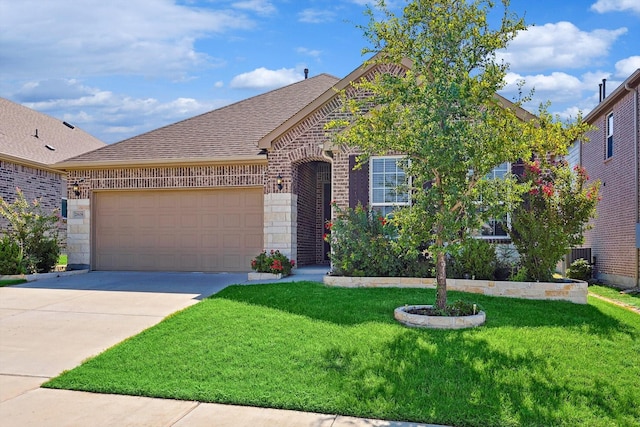
<instances>
[{"instance_id":1,"label":"closed tan panelled two-car garage door","mask_svg":"<svg viewBox=\"0 0 640 427\"><path fill-rule=\"evenodd\" d=\"M101 192L94 268L248 271L263 246L262 189Z\"/></svg>"}]
</instances>

